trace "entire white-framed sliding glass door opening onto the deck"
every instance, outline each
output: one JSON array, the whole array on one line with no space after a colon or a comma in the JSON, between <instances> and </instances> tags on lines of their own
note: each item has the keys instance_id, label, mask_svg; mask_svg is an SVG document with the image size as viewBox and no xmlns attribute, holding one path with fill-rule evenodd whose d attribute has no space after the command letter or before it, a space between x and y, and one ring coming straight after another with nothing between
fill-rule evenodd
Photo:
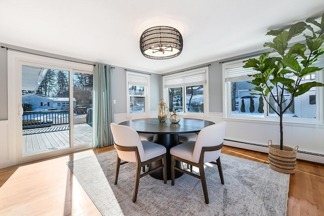
<instances>
[{"instance_id":1,"label":"entire white-framed sliding glass door opening onto the deck","mask_svg":"<svg viewBox=\"0 0 324 216\"><path fill-rule=\"evenodd\" d=\"M14 52L8 58L17 161L91 147L93 65Z\"/></svg>"}]
</instances>

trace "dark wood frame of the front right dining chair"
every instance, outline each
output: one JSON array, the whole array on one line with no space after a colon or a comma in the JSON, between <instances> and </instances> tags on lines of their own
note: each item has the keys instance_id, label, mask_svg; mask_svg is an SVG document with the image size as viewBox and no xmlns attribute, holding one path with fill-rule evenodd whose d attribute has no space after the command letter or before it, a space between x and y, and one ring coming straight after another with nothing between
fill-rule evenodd
<instances>
[{"instance_id":1,"label":"dark wood frame of the front right dining chair","mask_svg":"<svg viewBox=\"0 0 324 216\"><path fill-rule=\"evenodd\" d=\"M220 150L221 148L223 148L223 143L221 145L218 146L213 146L213 147L203 147L201 149L201 153L200 153L200 157L199 157L199 162L198 163L194 163L188 160L185 160L183 158L179 158L176 157L174 155L171 155L171 185L174 186L174 179L175 179L175 170L178 170L180 172L186 173L188 175L191 175L193 177L199 178L201 181L201 185L203 186L203 191L204 191L204 196L205 196L205 202L207 204L209 204L209 198L208 198L208 191L207 191L207 184L206 184L206 176L205 176L205 170L204 170L204 156L205 156L205 152L211 152L211 151L216 151L216 150ZM196 166L199 168L199 174L197 175L193 172L189 172L187 170L175 167L175 161L181 161L184 163L187 163L191 166ZM218 172L219 172L219 176L221 177L221 183L222 185L224 185L224 176L223 176L223 170L222 170L222 165L221 165L221 159L220 157L216 160L216 162L212 161L210 163L216 164L218 167Z\"/></svg>"}]
</instances>

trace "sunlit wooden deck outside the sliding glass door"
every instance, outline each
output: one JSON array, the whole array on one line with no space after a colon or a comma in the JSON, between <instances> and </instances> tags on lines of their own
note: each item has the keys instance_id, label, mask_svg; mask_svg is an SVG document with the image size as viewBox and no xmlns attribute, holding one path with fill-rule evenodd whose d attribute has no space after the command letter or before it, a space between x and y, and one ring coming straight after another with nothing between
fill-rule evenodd
<instances>
[{"instance_id":1,"label":"sunlit wooden deck outside the sliding glass door","mask_svg":"<svg viewBox=\"0 0 324 216\"><path fill-rule=\"evenodd\" d=\"M69 148L69 126L23 130L23 156ZM92 142L92 127L74 125L74 145Z\"/></svg>"}]
</instances>

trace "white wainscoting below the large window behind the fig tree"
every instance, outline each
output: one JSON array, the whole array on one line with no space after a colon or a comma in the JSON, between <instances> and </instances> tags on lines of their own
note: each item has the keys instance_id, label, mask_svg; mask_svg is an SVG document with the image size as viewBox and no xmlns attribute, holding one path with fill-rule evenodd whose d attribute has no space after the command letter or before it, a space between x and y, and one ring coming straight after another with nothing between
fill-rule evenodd
<instances>
[{"instance_id":1,"label":"white wainscoting below the large window behind the fig tree","mask_svg":"<svg viewBox=\"0 0 324 216\"><path fill-rule=\"evenodd\" d=\"M227 146L268 153L268 140L279 143L279 123L225 119ZM324 125L284 123L284 145L298 146L297 158L324 164Z\"/></svg>"}]
</instances>

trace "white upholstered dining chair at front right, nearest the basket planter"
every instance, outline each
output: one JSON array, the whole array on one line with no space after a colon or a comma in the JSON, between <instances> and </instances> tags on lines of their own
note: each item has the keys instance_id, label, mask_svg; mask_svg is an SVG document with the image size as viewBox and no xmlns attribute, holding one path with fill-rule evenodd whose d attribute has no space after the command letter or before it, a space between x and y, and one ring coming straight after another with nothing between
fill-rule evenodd
<instances>
[{"instance_id":1,"label":"white upholstered dining chair at front right, nearest the basket planter","mask_svg":"<svg viewBox=\"0 0 324 216\"><path fill-rule=\"evenodd\" d=\"M209 203L204 163L216 164L224 185L224 177L221 166L221 149L226 131L226 122L210 125L202 129L196 141L187 141L170 149L171 154L171 184L174 186L175 170L199 178L203 186L205 202ZM187 170L175 167L175 161L181 161L199 168L199 175ZM215 162L216 161L216 162ZM179 181L181 178L178 178Z\"/></svg>"}]
</instances>

